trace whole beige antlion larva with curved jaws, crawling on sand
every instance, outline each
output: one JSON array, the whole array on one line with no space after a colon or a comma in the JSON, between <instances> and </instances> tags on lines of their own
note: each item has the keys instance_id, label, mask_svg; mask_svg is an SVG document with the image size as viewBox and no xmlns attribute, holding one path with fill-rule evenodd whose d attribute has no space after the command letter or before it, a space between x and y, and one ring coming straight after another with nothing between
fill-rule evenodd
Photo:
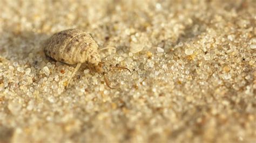
<instances>
[{"instance_id":1,"label":"whole beige antlion larva with curved jaws, crawling on sand","mask_svg":"<svg viewBox=\"0 0 256 143\"><path fill-rule=\"evenodd\" d=\"M78 29L69 29L60 31L53 34L49 39L44 42L44 52L56 61L64 62L69 65L75 65L68 84L68 87L72 77L76 74L77 70L83 63L87 63L90 70L95 70L97 73L104 75L104 81L107 87L110 87L109 80L105 76L107 72L106 62L102 62L99 54L99 46L95 40L93 40L91 34L86 33ZM106 49L106 48L102 48ZM111 69L126 69L126 67L112 66ZM130 71L130 70L129 70ZM130 71L131 73L131 71Z\"/></svg>"}]
</instances>

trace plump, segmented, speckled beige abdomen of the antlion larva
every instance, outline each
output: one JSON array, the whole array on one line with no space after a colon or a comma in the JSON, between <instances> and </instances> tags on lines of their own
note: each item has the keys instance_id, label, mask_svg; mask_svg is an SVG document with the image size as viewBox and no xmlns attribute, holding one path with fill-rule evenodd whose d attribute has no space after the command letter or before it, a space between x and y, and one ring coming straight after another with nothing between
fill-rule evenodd
<instances>
[{"instance_id":1,"label":"plump, segmented, speckled beige abdomen of the antlion larva","mask_svg":"<svg viewBox=\"0 0 256 143\"><path fill-rule=\"evenodd\" d=\"M91 54L98 54L98 45L90 34L71 29L53 34L45 42L44 50L51 58L72 65L84 63Z\"/></svg>"}]
</instances>

